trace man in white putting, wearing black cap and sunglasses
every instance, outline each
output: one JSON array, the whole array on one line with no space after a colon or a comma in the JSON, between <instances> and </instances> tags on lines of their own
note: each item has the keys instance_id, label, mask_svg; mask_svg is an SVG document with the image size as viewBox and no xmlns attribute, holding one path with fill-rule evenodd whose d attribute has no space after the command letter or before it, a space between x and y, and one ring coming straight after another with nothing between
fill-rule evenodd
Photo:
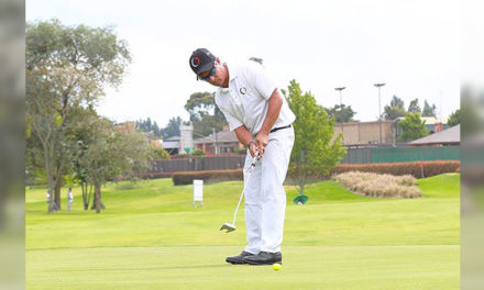
<instances>
[{"instance_id":1,"label":"man in white putting, wearing black cap and sunglasses","mask_svg":"<svg viewBox=\"0 0 484 290\"><path fill-rule=\"evenodd\" d=\"M189 64L197 80L218 87L215 100L231 131L248 146L245 171L258 150L260 161L245 186L248 245L231 264L272 265L282 263L286 178L294 144L290 111L273 79L254 62L221 63L206 48L196 49Z\"/></svg>"}]
</instances>

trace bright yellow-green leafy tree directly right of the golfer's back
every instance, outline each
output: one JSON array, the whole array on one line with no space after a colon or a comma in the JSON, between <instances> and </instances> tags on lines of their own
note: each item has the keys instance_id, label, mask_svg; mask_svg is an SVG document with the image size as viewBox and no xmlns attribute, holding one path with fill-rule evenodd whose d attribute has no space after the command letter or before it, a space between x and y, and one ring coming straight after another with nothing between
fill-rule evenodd
<instances>
[{"instance_id":1,"label":"bright yellow-green leafy tree directly right of the golfer's back","mask_svg":"<svg viewBox=\"0 0 484 290\"><path fill-rule=\"evenodd\" d=\"M342 146L342 134L331 142L334 133L334 119L329 119L323 107L316 103L310 92L304 92L296 80L292 80L287 98L290 110L296 114L293 123L296 134L292 166L297 168L299 196L304 190L311 172L328 175L331 169L344 157L346 149Z\"/></svg>"}]
</instances>

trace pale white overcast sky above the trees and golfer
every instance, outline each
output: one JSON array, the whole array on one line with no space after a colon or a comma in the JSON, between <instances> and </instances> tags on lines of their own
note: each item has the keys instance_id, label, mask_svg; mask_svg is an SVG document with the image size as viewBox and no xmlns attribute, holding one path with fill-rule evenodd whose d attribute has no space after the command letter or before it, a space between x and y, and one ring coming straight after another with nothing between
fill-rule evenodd
<instances>
[{"instance_id":1,"label":"pale white overcast sky above the trees and golfer","mask_svg":"<svg viewBox=\"0 0 484 290\"><path fill-rule=\"evenodd\" d=\"M188 58L198 47L222 62L250 57L279 88L295 79L323 107L340 102L354 119L375 121L393 96L408 108L418 98L438 118L460 107L458 0L26 0L26 21L56 18L65 25L113 25L133 62L118 89L107 88L98 112L117 122L188 120L184 105L198 91Z\"/></svg>"}]
</instances>

